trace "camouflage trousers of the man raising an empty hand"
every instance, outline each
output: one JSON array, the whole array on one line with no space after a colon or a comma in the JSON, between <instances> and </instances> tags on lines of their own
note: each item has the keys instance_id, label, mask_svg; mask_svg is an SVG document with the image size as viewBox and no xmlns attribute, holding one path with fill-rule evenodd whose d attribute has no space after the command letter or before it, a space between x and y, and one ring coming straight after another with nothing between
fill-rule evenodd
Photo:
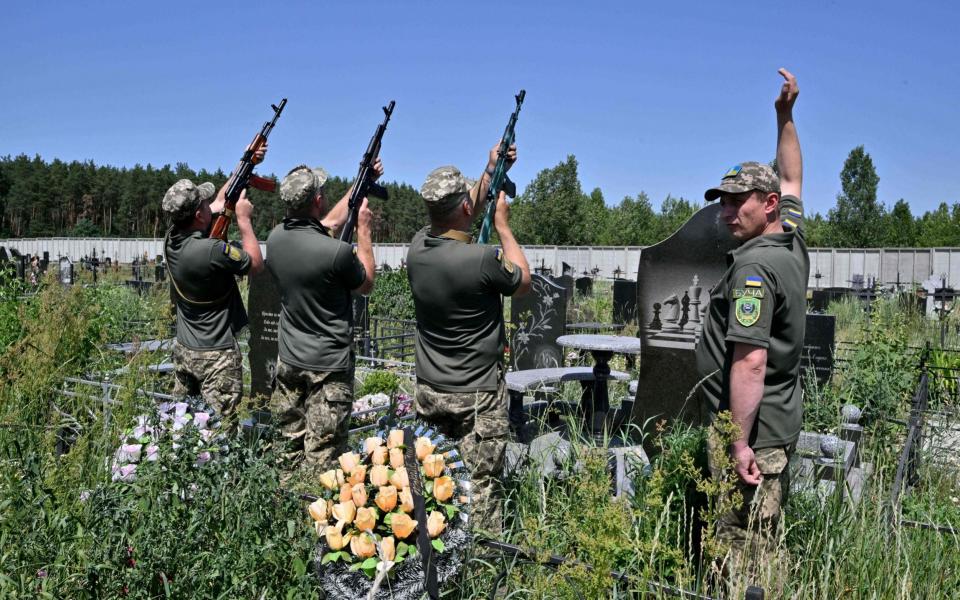
<instances>
[{"instance_id":1,"label":"camouflage trousers of the man raising an empty hand","mask_svg":"<svg viewBox=\"0 0 960 600\"><path fill-rule=\"evenodd\" d=\"M723 473L714 463L718 436L713 428L707 437L710 474L714 479ZM780 543L780 516L790 490L790 455L792 447L777 446L754 450L757 467L763 475L759 485L738 481L733 494L741 501L723 513L716 524L716 541L722 555L714 557L714 565L729 597L743 597L746 586L765 588L767 597L779 597L786 574L786 551Z\"/></svg>"}]
</instances>

